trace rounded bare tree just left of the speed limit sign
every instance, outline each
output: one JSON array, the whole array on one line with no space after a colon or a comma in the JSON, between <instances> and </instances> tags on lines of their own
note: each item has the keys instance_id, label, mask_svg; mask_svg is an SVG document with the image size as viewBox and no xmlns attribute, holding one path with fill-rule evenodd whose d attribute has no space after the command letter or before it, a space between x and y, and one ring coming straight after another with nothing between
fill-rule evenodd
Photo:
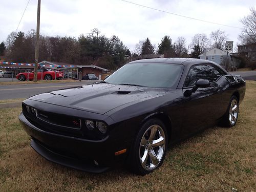
<instances>
[{"instance_id":1,"label":"rounded bare tree just left of the speed limit sign","mask_svg":"<svg viewBox=\"0 0 256 192\"><path fill-rule=\"evenodd\" d=\"M228 40L228 35L226 35L225 31L218 29L217 31L211 32L210 38L214 41L214 43L211 45L212 48L216 47L223 50L225 47L225 42Z\"/></svg>"}]
</instances>

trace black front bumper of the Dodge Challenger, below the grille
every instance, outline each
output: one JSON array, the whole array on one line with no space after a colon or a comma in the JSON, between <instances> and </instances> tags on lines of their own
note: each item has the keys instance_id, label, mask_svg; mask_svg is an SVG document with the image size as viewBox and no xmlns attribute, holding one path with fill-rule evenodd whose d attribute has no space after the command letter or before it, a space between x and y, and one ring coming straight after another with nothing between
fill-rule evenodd
<instances>
[{"instance_id":1,"label":"black front bumper of the Dodge Challenger, below the grille","mask_svg":"<svg viewBox=\"0 0 256 192\"><path fill-rule=\"evenodd\" d=\"M87 140L46 132L33 125L23 113L19 115L24 130L32 138L31 146L42 157L68 167L91 173L102 173L120 165L126 153L115 156L130 142L116 143L109 136L102 140Z\"/></svg>"}]
</instances>

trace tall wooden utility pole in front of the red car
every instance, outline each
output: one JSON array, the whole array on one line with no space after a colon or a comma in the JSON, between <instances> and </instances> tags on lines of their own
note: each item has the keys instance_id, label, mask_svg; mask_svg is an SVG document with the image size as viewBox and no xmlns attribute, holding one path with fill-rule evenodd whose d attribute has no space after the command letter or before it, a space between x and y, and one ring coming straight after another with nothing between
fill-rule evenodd
<instances>
[{"instance_id":1,"label":"tall wooden utility pole in front of the red car","mask_svg":"<svg viewBox=\"0 0 256 192\"><path fill-rule=\"evenodd\" d=\"M40 7L41 0L37 3L37 22L36 22L36 43L35 43L35 69L34 69L34 82L37 81L37 67L38 67L38 56L39 56L39 30L40 30Z\"/></svg>"}]
</instances>

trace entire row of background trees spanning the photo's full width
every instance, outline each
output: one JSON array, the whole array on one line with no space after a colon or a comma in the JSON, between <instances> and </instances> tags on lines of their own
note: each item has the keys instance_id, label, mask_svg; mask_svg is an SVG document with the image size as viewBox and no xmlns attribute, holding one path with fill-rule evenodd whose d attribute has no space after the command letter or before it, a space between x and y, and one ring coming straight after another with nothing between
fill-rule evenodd
<instances>
[{"instance_id":1,"label":"entire row of background trees spanning the photo's full width","mask_svg":"<svg viewBox=\"0 0 256 192\"><path fill-rule=\"evenodd\" d=\"M248 45L256 42L256 11L241 19L243 29L239 35L241 44ZM35 30L12 32L8 35L6 43L0 44L0 56L5 54L9 61L34 62ZM135 45L133 53L115 35L106 37L100 31L93 29L87 35L79 37L60 37L40 35L39 61L48 60L71 63L74 65L97 65L99 67L115 70L126 62L127 57L136 59L150 54L164 54L165 57L193 57L198 58L205 50L218 48L223 50L228 35L220 29L212 31L208 36L204 33L195 34L190 44L185 37L180 36L173 42L170 36L165 35L161 42L152 45L147 37ZM188 50L190 47L190 54Z\"/></svg>"}]
</instances>

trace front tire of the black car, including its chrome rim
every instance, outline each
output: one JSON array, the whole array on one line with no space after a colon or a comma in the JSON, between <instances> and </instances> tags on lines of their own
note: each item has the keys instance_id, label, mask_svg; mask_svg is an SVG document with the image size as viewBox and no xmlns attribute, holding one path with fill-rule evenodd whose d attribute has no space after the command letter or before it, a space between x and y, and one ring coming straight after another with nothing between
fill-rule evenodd
<instances>
[{"instance_id":1,"label":"front tire of the black car, including its chrome rim","mask_svg":"<svg viewBox=\"0 0 256 192\"><path fill-rule=\"evenodd\" d=\"M152 173L164 160L167 132L159 119L150 119L140 128L130 153L130 168L139 175Z\"/></svg>"}]
</instances>

